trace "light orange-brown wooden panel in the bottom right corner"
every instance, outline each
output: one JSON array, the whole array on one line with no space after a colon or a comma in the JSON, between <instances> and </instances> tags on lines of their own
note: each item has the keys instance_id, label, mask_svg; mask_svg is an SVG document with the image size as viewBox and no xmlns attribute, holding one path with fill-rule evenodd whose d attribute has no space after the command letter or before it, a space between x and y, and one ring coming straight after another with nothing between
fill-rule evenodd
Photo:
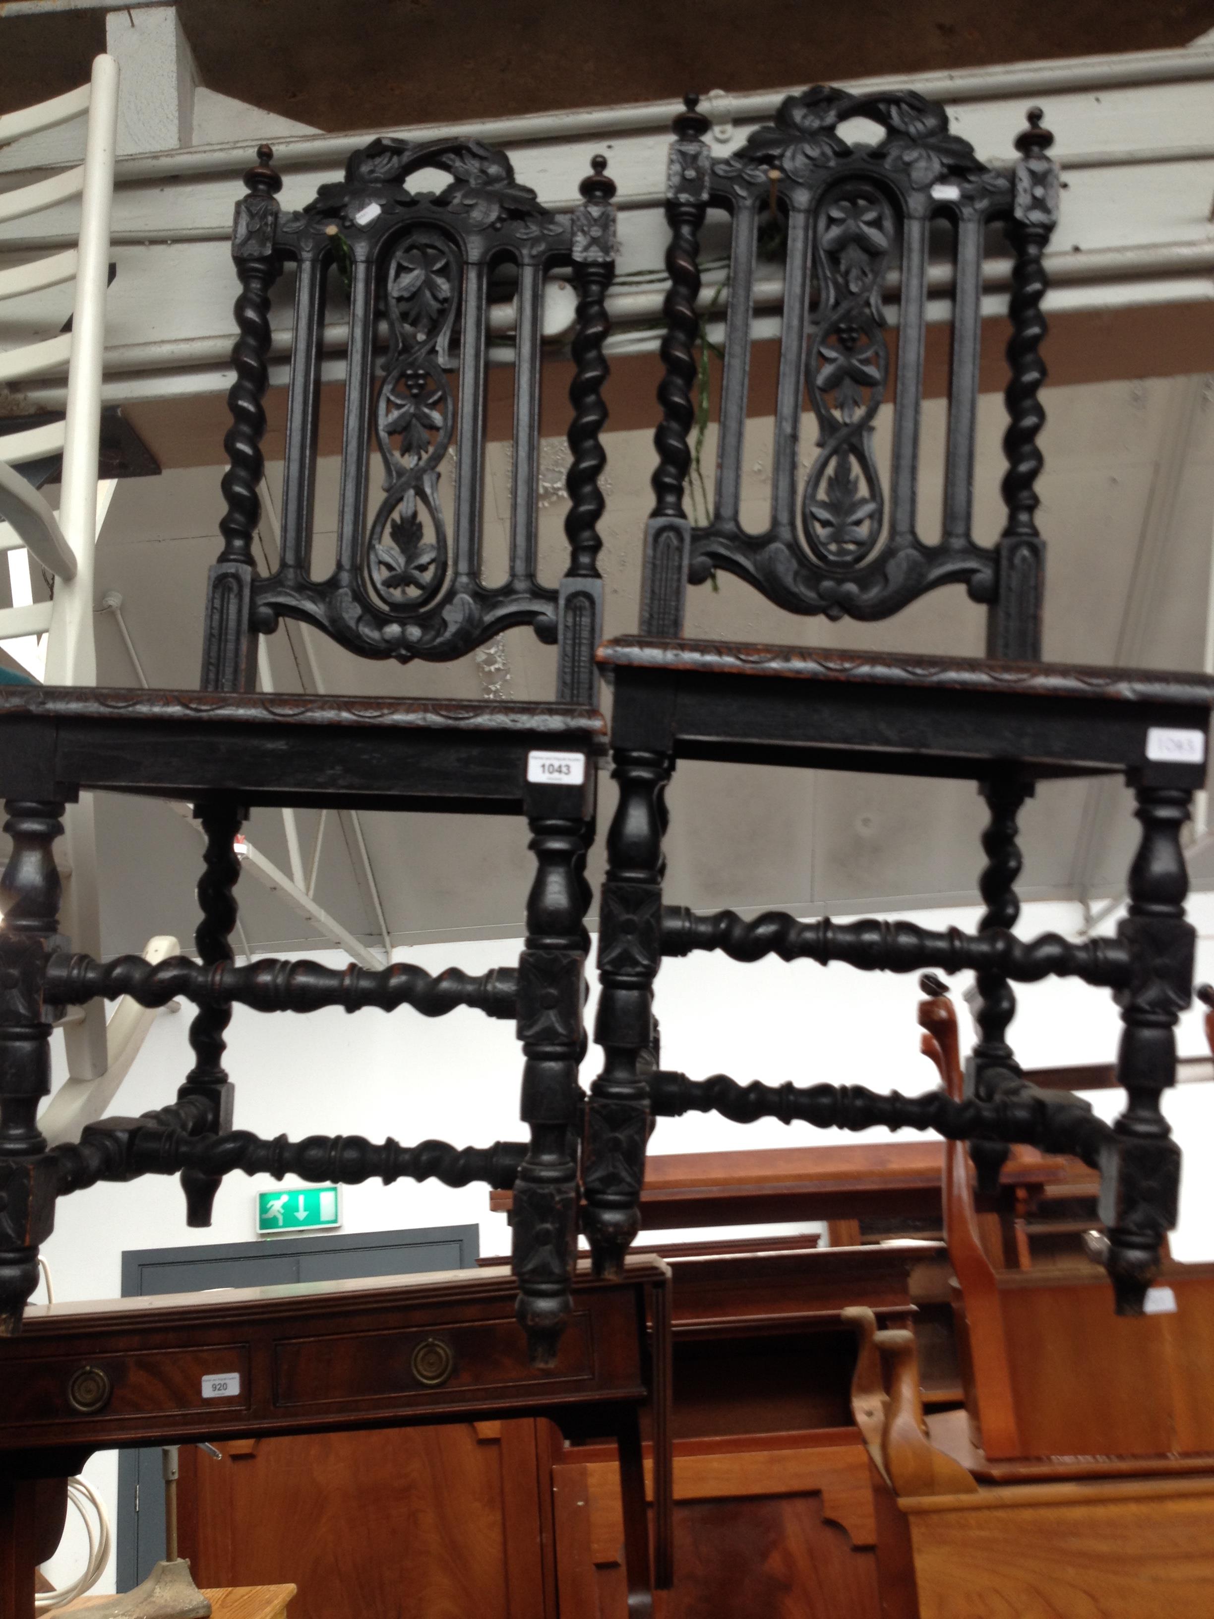
<instances>
[{"instance_id":1,"label":"light orange-brown wooden panel in the bottom right corner","mask_svg":"<svg viewBox=\"0 0 1214 1619\"><path fill-rule=\"evenodd\" d=\"M921 1619L1209 1619L1214 1481L1172 1488L1072 1486L1068 1499L1026 1485L997 1494L1038 1504L911 1511Z\"/></svg>"}]
</instances>

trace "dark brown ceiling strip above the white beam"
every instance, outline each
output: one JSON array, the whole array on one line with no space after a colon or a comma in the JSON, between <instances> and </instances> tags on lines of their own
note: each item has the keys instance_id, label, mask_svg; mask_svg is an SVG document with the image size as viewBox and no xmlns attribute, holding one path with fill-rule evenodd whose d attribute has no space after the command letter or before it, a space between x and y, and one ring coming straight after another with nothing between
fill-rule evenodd
<instances>
[{"instance_id":1,"label":"dark brown ceiling strip above the white beam","mask_svg":"<svg viewBox=\"0 0 1214 1619\"><path fill-rule=\"evenodd\" d=\"M180 0L212 91L322 130L610 107L686 89L1161 50L1214 0ZM79 84L100 11L0 11L0 112Z\"/></svg>"}]
</instances>

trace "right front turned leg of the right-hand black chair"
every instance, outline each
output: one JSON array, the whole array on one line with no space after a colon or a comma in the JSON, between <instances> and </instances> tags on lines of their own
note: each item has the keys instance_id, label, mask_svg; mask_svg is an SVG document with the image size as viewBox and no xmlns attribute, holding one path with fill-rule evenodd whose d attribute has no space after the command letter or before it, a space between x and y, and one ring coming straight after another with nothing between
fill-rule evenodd
<instances>
[{"instance_id":1,"label":"right front turned leg of the right-hand black chair","mask_svg":"<svg viewBox=\"0 0 1214 1619\"><path fill-rule=\"evenodd\" d=\"M1123 1025L1117 1078L1127 1106L1101 1175L1106 1264L1118 1315L1143 1313L1164 1235L1177 1222L1180 1148L1159 1099L1175 1083L1174 1028L1193 994L1196 944L1185 921L1188 871L1180 847L1191 793L1140 784L1135 797L1143 835L1130 868L1130 907L1117 928L1131 960L1130 984L1115 996Z\"/></svg>"}]
</instances>

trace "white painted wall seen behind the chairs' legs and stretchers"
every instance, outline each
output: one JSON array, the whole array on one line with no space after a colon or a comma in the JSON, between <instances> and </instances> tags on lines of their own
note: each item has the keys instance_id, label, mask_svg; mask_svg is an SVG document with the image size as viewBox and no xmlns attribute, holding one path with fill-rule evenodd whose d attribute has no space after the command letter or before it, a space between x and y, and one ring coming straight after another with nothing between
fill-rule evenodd
<instances>
[{"instance_id":1,"label":"white painted wall seen behind the chairs' legs and stretchers","mask_svg":"<svg viewBox=\"0 0 1214 1619\"><path fill-rule=\"evenodd\" d=\"M1193 920L1201 933L1201 975L1214 976L1214 895L1196 895ZM976 910L921 913L926 926L973 928ZM1080 926L1075 905L1025 907L1020 933L1070 933ZM1112 923L1107 924L1112 928ZM516 941L434 944L397 950L429 971L460 965L486 971L515 958ZM335 965L338 957L329 957ZM736 999L746 986L745 1018ZM965 984L958 978L953 994ZM748 967L724 957L699 955L667 962L659 981L664 1062L696 1078L727 1072L735 1078L835 1080L879 1090L919 1091L936 1083L936 1070L918 1054L916 976L860 973L845 967L767 960ZM1115 1054L1118 1020L1101 991L1070 981L1028 986L1013 1028L1026 1067L1109 1060ZM960 1004L960 1001L958 1001ZM592 1015L592 1004L589 1013ZM189 1067L186 1030L189 1009L162 1013L152 1026L120 1096L117 1111L141 1112L162 1106ZM963 1030L968 1018L963 1017ZM1199 1009L1180 1025L1180 1054L1204 1054ZM589 1083L597 1052L583 1070ZM388 1018L363 1012L351 1020L340 1010L311 1017L267 1017L236 1007L230 1028L230 1072L238 1085L236 1122L261 1135L287 1132L363 1133L374 1140L393 1135L413 1143L442 1137L458 1145L520 1138L520 1052L508 1023L460 1010L429 1022L405 1010ZM1093 1098L1106 1117L1120 1107L1120 1093ZM1175 1090L1165 1111L1186 1156L1182 1222L1174 1237L1180 1260L1214 1258L1214 1175L1209 1172L1214 1085ZM868 1132L884 1138L885 1132ZM832 1132L832 1138L843 1138ZM691 1153L730 1148L809 1143L808 1127L785 1128L774 1120L749 1128L724 1119L693 1115L662 1120L651 1151ZM58 1298L105 1298L120 1292L125 1248L244 1242L254 1230L254 1192L269 1177L233 1175L215 1205L210 1230L189 1230L176 1180L147 1177L129 1185L100 1185L65 1198L57 1229L45 1248ZM348 1187L345 1230L384 1230L411 1226L448 1226L476 1221L481 1251L505 1253L505 1217L490 1214L484 1187L445 1187L398 1182ZM288 1240L288 1239L280 1239ZM117 1454L92 1459L86 1477L117 1512ZM52 1580L65 1582L79 1569L83 1536L74 1520L63 1548L49 1566ZM97 1590L113 1590L113 1564Z\"/></svg>"}]
</instances>

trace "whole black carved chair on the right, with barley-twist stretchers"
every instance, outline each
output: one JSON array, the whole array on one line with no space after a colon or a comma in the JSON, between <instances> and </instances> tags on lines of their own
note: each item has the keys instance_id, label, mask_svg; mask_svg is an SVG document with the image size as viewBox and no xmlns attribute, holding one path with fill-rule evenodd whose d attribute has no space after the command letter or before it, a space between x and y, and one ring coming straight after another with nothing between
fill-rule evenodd
<instances>
[{"instance_id":1,"label":"whole black carved chair on the right, with barley-twist stretchers","mask_svg":"<svg viewBox=\"0 0 1214 1619\"><path fill-rule=\"evenodd\" d=\"M848 120L881 139L851 144ZM1034 484L1044 414L1039 345L1046 332L1042 253L1059 176L1041 112L1004 173L949 133L949 117L916 94L851 96L817 86L782 104L730 157L712 159L707 120L688 97L675 120L667 185L670 293L659 390L662 423L647 528L641 635L609 641L599 664L615 685L612 753L620 805L607 853L596 1038L601 1077L588 1103L584 1226L596 1264L612 1273L638 1227L651 1114L690 1109L735 1120L762 1115L822 1127L911 1125L971 1143L986 1187L1007 1143L1088 1153L1081 1109L1060 1109L1020 1073L1007 1028L1010 981L1070 975L1114 991L1122 1009L1120 1081L1128 1106L1101 1133L1102 1219L1117 1308L1136 1313L1175 1221L1180 1154L1159 1111L1174 1081L1172 1026L1190 1002L1193 929L1185 921L1180 832L1204 780L1214 685L1199 675L1072 669L1041 662L1044 542ZM699 232L709 207L733 220L715 497L703 526L683 495L694 413ZM756 241L764 212L787 233L770 521L740 518ZM916 523L919 416L932 222L952 225L953 332L944 521ZM1004 220L1013 256L1007 384L1007 521L994 546L973 536L974 418L984 232ZM895 364L885 332L887 277L898 274L897 392L889 491L874 457L874 418ZM800 481L808 408L817 447ZM800 487L798 487L800 482ZM809 651L683 638L686 584L725 570L793 614L885 618L944 584L987 609L986 659ZM910 923L800 923L767 913L693 915L662 902L664 790L675 761L730 759L814 769L976 780L991 810L976 934ZM1122 774L1136 797L1141 845L1130 907L1114 939L1021 941L1017 813L1038 780ZM652 983L664 955L725 950L751 962L848 962L863 970L978 975L981 1039L970 1096L919 1099L860 1088L738 1086L691 1081L657 1067Z\"/></svg>"}]
</instances>

